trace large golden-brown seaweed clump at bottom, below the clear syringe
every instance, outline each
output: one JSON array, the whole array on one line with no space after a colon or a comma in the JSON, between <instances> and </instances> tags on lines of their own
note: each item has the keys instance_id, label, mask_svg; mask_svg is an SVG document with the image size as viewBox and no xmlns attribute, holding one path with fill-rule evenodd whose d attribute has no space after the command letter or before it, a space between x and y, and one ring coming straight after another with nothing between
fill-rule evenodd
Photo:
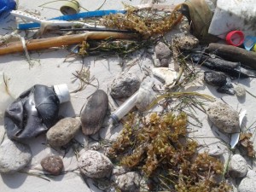
<instances>
[{"instance_id":1,"label":"large golden-brown seaweed clump at bottom, below the clear syringe","mask_svg":"<svg viewBox=\"0 0 256 192\"><path fill-rule=\"evenodd\" d=\"M149 120L130 114L108 156L133 171L143 173L150 191L230 191L217 181L222 163L207 153L198 154L198 143L187 136L186 113L152 113Z\"/></svg>"}]
</instances>

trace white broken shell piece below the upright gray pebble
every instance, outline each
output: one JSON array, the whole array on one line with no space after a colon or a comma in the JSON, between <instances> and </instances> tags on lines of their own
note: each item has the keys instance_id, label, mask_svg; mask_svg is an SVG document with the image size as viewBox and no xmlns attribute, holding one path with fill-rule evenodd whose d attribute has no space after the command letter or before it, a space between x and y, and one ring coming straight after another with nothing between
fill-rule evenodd
<instances>
[{"instance_id":1,"label":"white broken shell piece below the upright gray pebble","mask_svg":"<svg viewBox=\"0 0 256 192\"><path fill-rule=\"evenodd\" d=\"M177 79L177 72L166 67L153 68L152 72L155 77L165 81L166 86L170 86L175 83Z\"/></svg>"}]
</instances>

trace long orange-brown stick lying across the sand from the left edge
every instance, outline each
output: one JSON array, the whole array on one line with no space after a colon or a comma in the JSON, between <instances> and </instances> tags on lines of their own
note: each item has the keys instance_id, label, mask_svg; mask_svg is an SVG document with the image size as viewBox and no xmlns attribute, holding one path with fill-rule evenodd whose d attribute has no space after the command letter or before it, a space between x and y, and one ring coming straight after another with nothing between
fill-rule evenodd
<instances>
[{"instance_id":1,"label":"long orange-brown stick lying across the sand from the left edge","mask_svg":"<svg viewBox=\"0 0 256 192\"><path fill-rule=\"evenodd\" d=\"M52 47L61 47L62 45L79 44L88 39L102 40L107 38L131 39L136 38L134 34L122 32L85 32L75 35L65 35L54 38L40 38L26 41L27 50L49 49ZM6 55L15 52L24 51L21 41L5 44L0 47L0 55Z\"/></svg>"}]
</instances>

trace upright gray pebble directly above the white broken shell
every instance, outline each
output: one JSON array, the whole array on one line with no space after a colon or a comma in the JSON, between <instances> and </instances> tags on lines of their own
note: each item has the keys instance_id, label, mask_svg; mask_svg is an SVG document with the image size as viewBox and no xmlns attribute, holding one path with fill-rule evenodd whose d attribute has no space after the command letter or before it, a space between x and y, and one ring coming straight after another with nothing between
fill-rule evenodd
<instances>
[{"instance_id":1,"label":"upright gray pebble directly above the white broken shell","mask_svg":"<svg viewBox=\"0 0 256 192\"><path fill-rule=\"evenodd\" d=\"M155 55L156 59L158 59L160 62L155 63L155 67L168 67L169 61L172 56L172 51L169 49L169 47L164 44L163 42L159 42L155 46Z\"/></svg>"}]
</instances>

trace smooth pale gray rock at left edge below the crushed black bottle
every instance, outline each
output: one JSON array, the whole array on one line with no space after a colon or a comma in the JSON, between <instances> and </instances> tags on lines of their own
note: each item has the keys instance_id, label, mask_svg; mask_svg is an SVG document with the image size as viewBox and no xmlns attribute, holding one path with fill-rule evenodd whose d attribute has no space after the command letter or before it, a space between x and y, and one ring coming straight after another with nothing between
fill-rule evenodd
<instances>
[{"instance_id":1,"label":"smooth pale gray rock at left edge below the crushed black bottle","mask_svg":"<svg viewBox=\"0 0 256 192\"><path fill-rule=\"evenodd\" d=\"M0 146L0 172L14 173L30 163L32 152L29 146L9 139Z\"/></svg>"}]
</instances>

